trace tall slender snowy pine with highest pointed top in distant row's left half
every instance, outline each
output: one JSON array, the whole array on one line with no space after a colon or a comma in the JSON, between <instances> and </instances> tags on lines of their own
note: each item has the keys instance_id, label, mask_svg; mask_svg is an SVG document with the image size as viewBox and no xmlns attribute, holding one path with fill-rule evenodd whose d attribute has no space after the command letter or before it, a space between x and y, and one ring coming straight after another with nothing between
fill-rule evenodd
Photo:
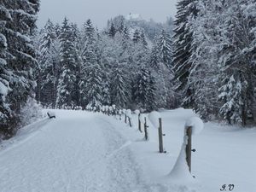
<instances>
[{"instance_id":1,"label":"tall slender snowy pine with highest pointed top in distant row's left half","mask_svg":"<svg viewBox=\"0 0 256 192\"><path fill-rule=\"evenodd\" d=\"M72 107L73 92L76 81L75 47L73 44L73 32L67 18L63 20L61 27L61 77L57 87L57 105Z\"/></svg>"}]
</instances>

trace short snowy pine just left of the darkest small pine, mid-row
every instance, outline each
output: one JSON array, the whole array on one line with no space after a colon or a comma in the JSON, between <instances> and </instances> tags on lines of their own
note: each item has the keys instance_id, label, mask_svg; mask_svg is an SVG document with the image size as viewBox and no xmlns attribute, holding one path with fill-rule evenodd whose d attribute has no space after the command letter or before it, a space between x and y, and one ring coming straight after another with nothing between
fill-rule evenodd
<instances>
[{"instance_id":1,"label":"short snowy pine just left of the darkest small pine, mid-row","mask_svg":"<svg viewBox=\"0 0 256 192\"><path fill-rule=\"evenodd\" d=\"M129 81L125 79L125 74L122 68L123 67L120 65L115 67L111 74L111 100L117 108L127 107L131 98L130 84Z\"/></svg>"}]
</instances>

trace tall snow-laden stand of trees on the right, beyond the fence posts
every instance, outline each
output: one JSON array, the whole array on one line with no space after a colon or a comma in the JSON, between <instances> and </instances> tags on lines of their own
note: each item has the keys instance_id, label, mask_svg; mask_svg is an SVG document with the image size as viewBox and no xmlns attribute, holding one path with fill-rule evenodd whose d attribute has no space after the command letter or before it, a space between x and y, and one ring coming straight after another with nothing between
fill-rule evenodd
<instances>
[{"instance_id":1,"label":"tall snow-laden stand of trees on the right, beyond the fence posts","mask_svg":"<svg viewBox=\"0 0 256 192\"><path fill-rule=\"evenodd\" d=\"M177 3L173 70L182 105L204 119L256 123L256 3Z\"/></svg>"}]
</instances>

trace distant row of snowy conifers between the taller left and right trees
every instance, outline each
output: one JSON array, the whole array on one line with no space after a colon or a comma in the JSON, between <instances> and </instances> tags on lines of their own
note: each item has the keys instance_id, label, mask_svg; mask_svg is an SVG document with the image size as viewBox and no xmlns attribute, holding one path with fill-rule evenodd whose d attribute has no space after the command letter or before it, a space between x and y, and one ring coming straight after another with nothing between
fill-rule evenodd
<instances>
[{"instance_id":1,"label":"distant row of snowy conifers between the taller left and right trees","mask_svg":"<svg viewBox=\"0 0 256 192\"><path fill-rule=\"evenodd\" d=\"M162 30L151 48L141 29L111 22L99 32L48 20L38 42L37 100L50 108L171 108L172 39ZM171 102L170 102L171 101Z\"/></svg>"}]
</instances>

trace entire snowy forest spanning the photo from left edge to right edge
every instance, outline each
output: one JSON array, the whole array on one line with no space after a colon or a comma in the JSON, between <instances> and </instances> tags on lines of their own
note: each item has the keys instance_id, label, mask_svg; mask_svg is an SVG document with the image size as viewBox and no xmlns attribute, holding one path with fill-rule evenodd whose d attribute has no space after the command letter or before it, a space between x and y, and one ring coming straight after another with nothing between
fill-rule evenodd
<instances>
[{"instance_id":1,"label":"entire snowy forest spanning the photo from left edge to right edge","mask_svg":"<svg viewBox=\"0 0 256 192\"><path fill-rule=\"evenodd\" d=\"M123 16L101 31L67 18L37 30L38 9L38 0L0 2L0 139L32 98L49 108L182 106L255 125L254 0L179 0L173 32Z\"/></svg>"}]
</instances>

